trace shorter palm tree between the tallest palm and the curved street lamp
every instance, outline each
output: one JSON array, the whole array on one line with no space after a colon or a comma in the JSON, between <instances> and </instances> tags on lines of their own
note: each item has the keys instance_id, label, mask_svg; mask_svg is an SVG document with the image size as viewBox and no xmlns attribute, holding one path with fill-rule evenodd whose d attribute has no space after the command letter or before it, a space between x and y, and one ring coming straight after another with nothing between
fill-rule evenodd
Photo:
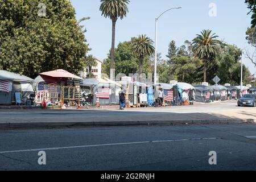
<instances>
[{"instance_id":1,"label":"shorter palm tree between the tallest palm and the curved street lamp","mask_svg":"<svg viewBox=\"0 0 256 182\"><path fill-rule=\"evenodd\" d=\"M153 40L146 35L139 35L131 41L131 52L139 56L139 72L143 73L143 61L145 56L151 56L155 51Z\"/></svg>"}]
</instances>

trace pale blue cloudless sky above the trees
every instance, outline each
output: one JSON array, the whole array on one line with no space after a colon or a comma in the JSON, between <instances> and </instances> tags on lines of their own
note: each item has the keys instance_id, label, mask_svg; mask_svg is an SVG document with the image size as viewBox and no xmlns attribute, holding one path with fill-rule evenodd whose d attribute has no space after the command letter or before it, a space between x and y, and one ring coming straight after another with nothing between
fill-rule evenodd
<instances>
[{"instance_id":1,"label":"pale blue cloudless sky above the trees","mask_svg":"<svg viewBox=\"0 0 256 182\"><path fill-rule=\"evenodd\" d=\"M90 16L90 20L82 24L87 28L86 39L92 51L89 53L98 59L105 59L111 47L112 23L101 16L100 0L71 0L76 10L76 18ZM215 3L217 16L209 16L209 4ZM244 0L131 0L129 14L118 20L115 44L130 40L139 34L146 34L155 39L155 18L163 11L181 6L182 9L172 10L164 14L158 23L158 52L165 55L168 44L175 40L177 46L185 40L191 41L203 29L210 29L229 44L240 48L249 48L245 40L245 32L250 26L250 16ZM243 56L243 63L251 73L256 69Z\"/></svg>"}]
</instances>

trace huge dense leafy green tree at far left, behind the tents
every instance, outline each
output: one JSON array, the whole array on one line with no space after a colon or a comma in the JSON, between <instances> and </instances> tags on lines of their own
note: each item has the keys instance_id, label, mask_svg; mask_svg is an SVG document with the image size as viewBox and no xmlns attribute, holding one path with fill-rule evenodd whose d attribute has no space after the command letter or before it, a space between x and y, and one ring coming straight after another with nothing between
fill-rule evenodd
<instances>
[{"instance_id":1,"label":"huge dense leafy green tree at far left, behind the tents","mask_svg":"<svg viewBox=\"0 0 256 182\"><path fill-rule=\"evenodd\" d=\"M46 16L39 16L40 3ZM69 1L0 0L2 69L30 77L60 68L77 73L88 50Z\"/></svg>"}]
</instances>

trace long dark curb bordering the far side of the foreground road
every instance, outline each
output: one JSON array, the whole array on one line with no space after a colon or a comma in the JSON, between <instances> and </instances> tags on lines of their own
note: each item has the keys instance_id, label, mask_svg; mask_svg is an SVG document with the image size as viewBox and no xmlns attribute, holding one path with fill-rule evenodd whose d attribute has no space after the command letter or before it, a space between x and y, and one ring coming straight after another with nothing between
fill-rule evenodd
<instances>
[{"instance_id":1,"label":"long dark curb bordering the far side of the foreground road","mask_svg":"<svg viewBox=\"0 0 256 182\"><path fill-rule=\"evenodd\" d=\"M104 127L104 126L173 126L192 124L241 124L256 123L256 119L199 119L194 121L106 121L106 122L23 122L0 123L0 130L8 129L51 129L59 127Z\"/></svg>"}]
</instances>

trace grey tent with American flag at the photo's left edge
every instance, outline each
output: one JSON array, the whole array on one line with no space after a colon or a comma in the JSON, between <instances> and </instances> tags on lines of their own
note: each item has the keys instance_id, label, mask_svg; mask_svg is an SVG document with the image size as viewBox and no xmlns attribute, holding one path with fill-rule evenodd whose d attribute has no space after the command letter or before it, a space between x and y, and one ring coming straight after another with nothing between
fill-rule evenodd
<instances>
[{"instance_id":1,"label":"grey tent with American flag at the photo's left edge","mask_svg":"<svg viewBox=\"0 0 256 182\"><path fill-rule=\"evenodd\" d=\"M30 94L34 94L34 80L24 75L0 70L0 105L14 104L15 92L22 93L22 100L26 100Z\"/></svg>"}]
</instances>

